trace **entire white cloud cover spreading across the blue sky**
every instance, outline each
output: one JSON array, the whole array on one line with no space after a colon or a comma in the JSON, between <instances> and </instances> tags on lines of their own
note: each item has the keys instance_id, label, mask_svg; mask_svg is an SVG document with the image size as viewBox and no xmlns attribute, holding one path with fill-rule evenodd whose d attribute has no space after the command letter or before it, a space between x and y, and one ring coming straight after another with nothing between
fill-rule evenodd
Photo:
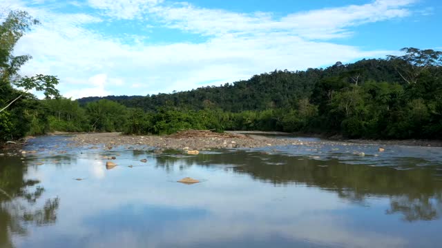
<instances>
[{"instance_id":1,"label":"entire white cloud cover spreading across the blue sky","mask_svg":"<svg viewBox=\"0 0 442 248\"><path fill-rule=\"evenodd\" d=\"M206 85L204 82L231 83L275 69L304 70L336 61L392 54L385 50L364 51L327 39L350 35L355 25L406 17L414 2L378 0L275 19L271 13L237 13L159 0L88 1L104 15L61 14L7 1L42 22L17 45L17 54L34 57L21 73L57 75L61 93L73 97L189 90ZM206 41L145 43L146 34L136 34L131 36L136 42L128 45L87 28L90 24L106 24L108 18L140 21L139 17L155 20L166 28L202 35ZM153 23L144 26L147 25ZM87 83L92 85L79 89Z\"/></svg>"}]
</instances>

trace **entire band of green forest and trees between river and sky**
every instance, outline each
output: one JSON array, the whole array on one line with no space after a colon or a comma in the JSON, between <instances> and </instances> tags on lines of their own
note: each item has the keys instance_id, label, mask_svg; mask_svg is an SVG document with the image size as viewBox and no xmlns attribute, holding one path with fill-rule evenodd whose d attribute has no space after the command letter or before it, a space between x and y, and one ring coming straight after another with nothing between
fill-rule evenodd
<instances>
[{"instance_id":1,"label":"entire band of green forest and trees between river and sky","mask_svg":"<svg viewBox=\"0 0 442 248\"><path fill-rule=\"evenodd\" d=\"M59 95L56 76L19 76L31 56L15 44L38 21L10 12L0 24L0 142L45 132L171 134L262 130L347 138L442 138L442 52L274 72L247 81L148 96ZM30 90L44 92L39 100Z\"/></svg>"}]
</instances>

